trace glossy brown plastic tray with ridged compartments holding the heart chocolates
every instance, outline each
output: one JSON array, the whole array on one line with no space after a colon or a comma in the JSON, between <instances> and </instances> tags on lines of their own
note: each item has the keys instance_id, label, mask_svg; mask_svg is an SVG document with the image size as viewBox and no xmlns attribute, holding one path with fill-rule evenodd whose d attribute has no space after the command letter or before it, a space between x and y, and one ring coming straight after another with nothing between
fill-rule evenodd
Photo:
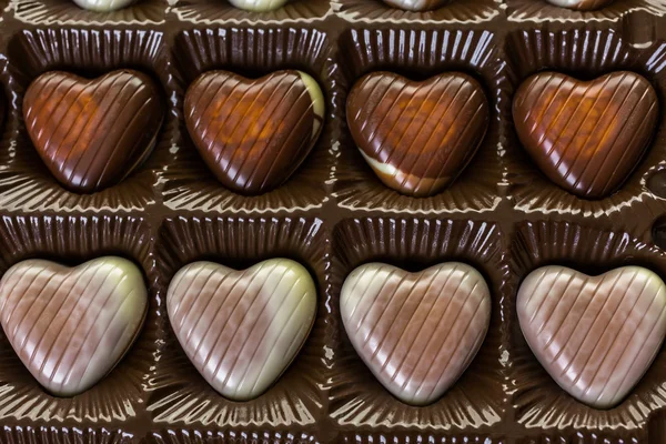
<instances>
[{"instance_id":1,"label":"glossy brown plastic tray with ridged compartments holding the heart chocolates","mask_svg":"<svg viewBox=\"0 0 666 444\"><path fill-rule=\"evenodd\" d=\"M544 264L586 273L639 264L666 278L666 251L653 242L654 231L666 246L664 7L616 0L581 13L545 0L452 0L433 12L407 13L381 0L294 0L260 14L225 0L139 0L95 14L69 0L0 0L0 84L8 104L0 138L0 273L27 258L74 264L121 254L141 265L151 294L138 343L104 381L73 398L46 394L0 333L1 443L666 440L666 350L619 406L596 411L564 394L538 366L514 310L517 285ZM23 92L48 70L93 77L118 68L138 69L161 85L168 114L158 145L119 185L70 193L49 175L27 137ZM183 91L211 69L258 77L285 68L320 81L326 123L290 181L243 198L221 186L192 147ZM523 152L511 98L542 69L586 79L628 69L654 84L658 131L614 195L574 198ZM374 70L414 79L457 70L484 87L488 133L446 191L424 200L401 196L359 154L344 103L354 81ZM196 259L241 268L279 255L297 260L315 278L313 333L265 395L229 402L205 384L175 341L163 300L169 280ZM488 280L488 336L458 383L426 408L389 395L342 327L341 284L353 266L371 260L408 270L461 260Z\"/></svg>"}]
</instances>

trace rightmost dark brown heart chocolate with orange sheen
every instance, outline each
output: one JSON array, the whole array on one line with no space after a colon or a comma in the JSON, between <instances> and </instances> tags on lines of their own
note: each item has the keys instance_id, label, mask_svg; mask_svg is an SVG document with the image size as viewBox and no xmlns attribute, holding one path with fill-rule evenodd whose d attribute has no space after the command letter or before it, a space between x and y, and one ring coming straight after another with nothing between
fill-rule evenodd
<instances>
[{"instance_id":1,"label":"rightmost dark brown heart chocolate with orange sheen","mask_svg":"<svg viewBox=\"0 0 666 444\"><path fill-rule=\"evenodd\" d=\"M627 71L593 81L538 73L521 84L513 104L518 138L538 168L585 199L604 198L626 181L658 114L652 84Z\"/></svg>"}]
</instances>

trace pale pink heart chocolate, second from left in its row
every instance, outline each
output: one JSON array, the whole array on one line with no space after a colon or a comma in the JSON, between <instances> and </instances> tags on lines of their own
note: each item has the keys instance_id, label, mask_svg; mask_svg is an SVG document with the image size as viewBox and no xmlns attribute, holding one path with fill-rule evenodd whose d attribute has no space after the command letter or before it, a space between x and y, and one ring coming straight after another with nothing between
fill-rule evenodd
<instances>
[{"instance_id":1,"label":"pale pink heart chocolate, second from left in its row","mask_svg":"<svg viewBox=\"0 0 666 444\"><path fill-rule=\"evenodd\" d=\"M167 311L199 373L223 396L246 401L265 392L301 350L316 289L307 270L287 259L243 271L194 262L171 281Z\"/></svg>"}]
</instances>

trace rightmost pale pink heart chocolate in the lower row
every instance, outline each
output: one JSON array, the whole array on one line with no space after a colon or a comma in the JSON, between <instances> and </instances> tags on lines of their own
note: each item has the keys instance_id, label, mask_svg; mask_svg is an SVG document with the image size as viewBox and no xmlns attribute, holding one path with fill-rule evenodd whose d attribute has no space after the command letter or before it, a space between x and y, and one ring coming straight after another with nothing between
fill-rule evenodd
<instances>
[{"instance_id":1,"label":"rightmost pale pink heart chocolate in the lower row","mask_svg":"<svg viewBox=\"0 0 666 444\"><path fill-rule=\"evenodd\" d=\"M666 335L666 286L640 266L588 276L564 266L529 273L518 321L544 369L578 401L617 405L645 374Z\"/></svg>"}]
</instances>

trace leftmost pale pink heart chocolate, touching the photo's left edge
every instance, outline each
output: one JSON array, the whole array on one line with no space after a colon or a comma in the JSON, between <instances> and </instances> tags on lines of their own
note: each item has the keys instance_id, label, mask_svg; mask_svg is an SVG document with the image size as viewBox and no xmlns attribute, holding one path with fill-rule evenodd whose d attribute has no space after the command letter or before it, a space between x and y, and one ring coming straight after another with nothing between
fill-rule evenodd
<instances>
[{"instance_id":1,"label":"leftmost pale pink heart chocolate, touching the photo's left edge","mask_svg":"<svg viewBox=\"0 0 666 444\"><path fill-rule=\"evenodd\" d=\"M118 364L148 312L132 262L99 258L75 268L27 260L0 280L0 322L11 346L50 393L73 396Z\"/></svg>"}]
</instances>

